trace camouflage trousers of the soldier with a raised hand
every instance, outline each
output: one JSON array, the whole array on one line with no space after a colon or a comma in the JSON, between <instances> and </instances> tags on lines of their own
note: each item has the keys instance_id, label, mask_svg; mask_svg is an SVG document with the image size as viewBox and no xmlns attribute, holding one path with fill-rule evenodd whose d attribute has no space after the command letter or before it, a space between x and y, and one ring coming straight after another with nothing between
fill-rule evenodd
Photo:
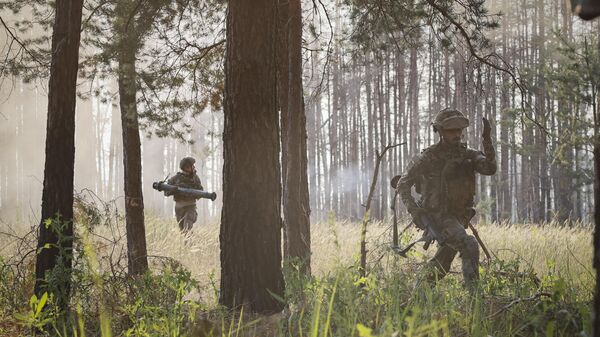
<instances>
[{"instance_id":1,"label":"camouflage trousers of the soldier with a raised hand","mask_svg":"<svg viewBox=\"0 0 600 337\"><path fill-rule=\"evenodd\" d=\"M453 215L438 217L436 232L439 246L435 256L428 262L429 281L436 281L450 271L457 253L462 260L462 273L467 286L479 279L479 244L468 235L465 226Z\"/></svg>"}]
</instances>

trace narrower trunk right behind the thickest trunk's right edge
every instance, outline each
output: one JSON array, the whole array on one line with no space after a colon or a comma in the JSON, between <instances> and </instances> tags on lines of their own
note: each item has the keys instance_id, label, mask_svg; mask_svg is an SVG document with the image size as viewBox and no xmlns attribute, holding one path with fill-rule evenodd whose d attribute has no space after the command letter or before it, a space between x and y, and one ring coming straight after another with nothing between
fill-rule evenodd
<instances>
[{"instance_id":1,"label":"narrower trunk right behind the thickest trunk's right edge","mask_svg":"<svg viewBox=\"0 0 600 337\"><path fill-rule=\"evenodd\" d=\"M299 259L310 273L310 205L308 196L306 114L302 90L302 8L289 1L289 85L287 132L283 138L286 172L283 214L286 258Z\"/></svg>"}]
</instances>

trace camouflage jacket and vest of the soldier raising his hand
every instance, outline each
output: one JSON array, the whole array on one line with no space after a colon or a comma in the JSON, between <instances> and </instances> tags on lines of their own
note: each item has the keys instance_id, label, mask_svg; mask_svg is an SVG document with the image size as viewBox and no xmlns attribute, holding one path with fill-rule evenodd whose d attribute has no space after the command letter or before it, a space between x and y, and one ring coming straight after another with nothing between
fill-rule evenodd
<instances>
[{"instance_id":1,"label":"camouflage jacket and vest of the soldier raising his hand","mask_svg":"<svg viewBox=\"0 0 600 337\"><path fill-rule=\"evenodd\" d=\"M470 219L475 196L475 173L496 173L496 153L491 141L483 142L484 152L439 142L423 150L407 167L398 182L402 202L412 212L422 207L442 214L450 213ZM412 187L421 195L419 202Z\"/></svg>"}]
</instances>

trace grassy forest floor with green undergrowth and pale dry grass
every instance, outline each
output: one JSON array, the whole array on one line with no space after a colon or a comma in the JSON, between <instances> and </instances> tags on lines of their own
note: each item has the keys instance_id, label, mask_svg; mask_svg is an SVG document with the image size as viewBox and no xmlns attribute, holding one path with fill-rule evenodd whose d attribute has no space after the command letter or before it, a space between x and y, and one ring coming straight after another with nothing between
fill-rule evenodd
<instances>
[{"instance_id":1,"label":"grassy forest floor with green undergrowth and pale dry grass","mask_svg":"<svg viewBox=\"0 0 600 337\"><path fill-rule=\"evenodd\" d=\"M470 294L462 286L459 258L453 272L437 285L416 287L419 271L435 247L414 249L408 258L395 255L388 223L370 224L368 275L361 278L359 224L317 223L312 226L313 277L286 268L289 305L265 317L218 306L216 223L197 224L184 237L174 220L148 216L153 272L131 280L125 273L122 219L99 219L80 220L86 223L80 228L89 230L79 231L80 246L87 247L88 254L76 253L74 312L66 324L78 335L590 335L595 280L592 229L584 225L477 226L494 258L487 261L482 253L479 289ZM52 310L38 310L44 304L32 298L33 235L26 235L25 226L11 231L0 235L0 335L29 334L33 326L56 327ZM410 229L402 242L417 235Z\"/></svg>"}]
</instances>

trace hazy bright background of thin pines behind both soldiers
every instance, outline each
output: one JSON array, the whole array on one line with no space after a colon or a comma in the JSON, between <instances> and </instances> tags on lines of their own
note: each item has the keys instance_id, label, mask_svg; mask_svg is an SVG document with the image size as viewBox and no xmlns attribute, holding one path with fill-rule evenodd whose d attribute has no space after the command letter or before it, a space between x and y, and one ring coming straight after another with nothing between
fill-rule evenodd
<instances>
[{"instance_id":1,"label":"hazy bright background of thin pines behind both soldiers","mask_svg":"<svg viewBox=\"0 0 600 337\"><path fill-rule=\"evenodd\" d=\"M588 221L593 207L591 137L597 109L597 75L589 70L597 67L598 23L577 22L564 2L489 1L483 23L467 26L471 37L482 39L473 40L475 57L456 27L443 23L440 14L428 16L431 8L412 8L403 22L397 22L397 12L408 9L394 6L386 3L376 9L360 1L303 4L302 67L313 220L325 219L330 212L338 218L360 218L375 151L407 143L391 150L382 165L381 179L389 181L436 141L429 127L432 116L445 107L457 107L471 120L466 141L472 147L479 147L481 118L494 121L499 174L479 178L479 189L486 193L479 194L477 205L485 218ZM457 13L460 10L472 14L472 9ZM196 15L182 12L189 16L181 20ZM90 8L84 9L84 17L86 13L90 15ZM17 23L23 25L28 15L32 12L21 11L6 24L28 42L31 51L43 55L44 42L36 40L36 34L44 36L39 33L42 28L32 26L37 28L26 34L15 28L22 27ZM171 200L151 189L151 183L174 174L185 155L197 158L205 187L221 192L224 21L217 16L203 17L210 29L189 26L182 33L173 30L174 23L153 27L141 50L143 192L146 210L155 214L170 216L173 207ZM82 55L87 58L78 86L75 189L123 204L119 99L116 78L108 69L115 64L98 61L107 51L89 42L94 37L110 41L94 30L103 24L84 21L82 32ZM199 32L210 34L193 40ZM176 34L200 44L171 46L169 53L159 48L165 39L176 41ZM12 36L3 30L0 39L8 50ZM25 53L15 50L13 55ZM209 52L210 57L200 58ZM171 69L167 60L175 59L174 55L182 61ZM200 58L195 64L201 70L186 66L184 61L194 58ZM16 76L9 76L14 67L3 67L0 213L3 221L30 222L39 220L35 218L43 180L47 88L31 72L18 69ZM187 69L189 75L180 84L157 78L166 78L176 68ZM43 77L43 72L38 75ZM167 88L176 88L177 95L168 97ZM156 100L148 98L151 93L157 94ZM186 103L192 99L198 104ZM166 123L169 119L181 127ZM388 184L378 185L374 217L390 216L391 192ZM200 207L200 222L206 222L220 214L221 204L218 199Z\"/></svg>"}]
</instances>

